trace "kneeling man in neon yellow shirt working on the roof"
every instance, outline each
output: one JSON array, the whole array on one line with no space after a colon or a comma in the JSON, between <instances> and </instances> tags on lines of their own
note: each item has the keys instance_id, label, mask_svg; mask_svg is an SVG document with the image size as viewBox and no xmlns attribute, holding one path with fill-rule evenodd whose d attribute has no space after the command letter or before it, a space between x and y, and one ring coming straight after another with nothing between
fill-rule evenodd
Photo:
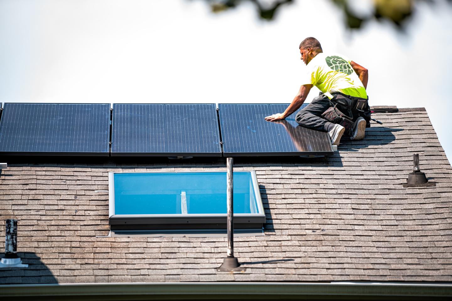
<instances>
[{"instance_id":1,"label":"kneeling man in neon yellow shirt working on the roof","mask_svg":"<svg viewBox=\"0 0 452 301\"><path fill-rule=\"evenodd\" d=\"M268 121L285 119L301 107L312 86L316 86L321 94L298 112L295 117L297 123L308 129L328 132L333 145L339 145L346 128L350 139L363 139L366 126L370 126L370 109L366 93L367 69L342 55L323 53L320 42L314 37L304 39L299 48L301 60L307 66L300 90L286 111L267 116L265 119ZM328 109L331 112L333 108L330 107L334 105L341 111L339 114L346 115L341 119L346 122L339 124L338 119L328 117L330 114L325 118L336 123L323 118L322 114Z\"/></svg>"}]
</instances>

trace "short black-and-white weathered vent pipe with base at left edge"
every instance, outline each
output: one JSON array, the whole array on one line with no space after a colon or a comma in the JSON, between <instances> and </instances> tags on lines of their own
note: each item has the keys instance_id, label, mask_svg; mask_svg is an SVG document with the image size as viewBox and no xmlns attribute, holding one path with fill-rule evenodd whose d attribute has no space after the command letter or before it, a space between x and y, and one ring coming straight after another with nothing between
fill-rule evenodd
<instances>
[{"instance_id":1,"label":"short black-and-white weathered vent pipe with base at left edge","mask_svg":"<svg viewBox=\"0 0 452 301\"><path fill-rule=\"evenodd\" d=\"M17 219L5 222L5 257L0 260L0 268L27 268L17 256Z\"/></svg>"}]
</instances>

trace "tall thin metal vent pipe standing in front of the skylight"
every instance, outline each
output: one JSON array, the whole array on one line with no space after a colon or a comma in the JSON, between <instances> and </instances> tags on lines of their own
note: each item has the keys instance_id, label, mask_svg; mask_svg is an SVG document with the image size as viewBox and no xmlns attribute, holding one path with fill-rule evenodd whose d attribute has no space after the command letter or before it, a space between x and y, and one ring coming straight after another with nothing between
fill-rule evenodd
<instances>
[{"instance_id":1,"label":"tall thin metal vent pipe standing in front of the skylight","mask_svg":"<svg viewBox=\"0 0 452 301\"><path fill-rule=\"evenodd\" d=\"M240 268L239 260L234 257L234 189L232 158L226 158L226 200L227 200L227 257L217 269L218 272L245 272L246 268Z\"/></svg>"}]
</instances>

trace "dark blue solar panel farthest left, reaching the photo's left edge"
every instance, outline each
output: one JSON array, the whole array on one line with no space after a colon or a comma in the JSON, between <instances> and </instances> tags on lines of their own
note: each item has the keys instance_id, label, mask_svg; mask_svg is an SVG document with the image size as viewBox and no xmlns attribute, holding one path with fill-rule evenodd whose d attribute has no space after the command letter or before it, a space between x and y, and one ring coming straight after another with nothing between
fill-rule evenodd
<instances>
[{"instance_id":1,"label":"dark blue solar panel farthest left, reaching the photo's left edge","mask_svg":"<svg viewBox=\"0 0 452 301\"><path fill-rule=\"evenodd\" d=\"M0 153L108 156L109 104L5 103Z\"/></svg>"}]
</instances>

